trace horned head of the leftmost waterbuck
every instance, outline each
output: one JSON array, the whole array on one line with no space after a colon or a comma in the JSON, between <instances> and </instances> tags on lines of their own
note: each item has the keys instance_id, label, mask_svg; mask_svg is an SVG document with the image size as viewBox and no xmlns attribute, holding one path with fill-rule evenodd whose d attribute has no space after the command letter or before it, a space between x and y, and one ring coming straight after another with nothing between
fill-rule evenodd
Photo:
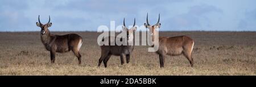
<instances>
[{"instance_id":1,"label":"horned head of the leftmost waterbuck","mask_svg":"<svg viewBox=\"0 0 256 87\"><path fill-rule=\"evenodd\" d=\"M48 30L48 27L51 27L52 26L52 23L50 23L50 16L49 16L49 21L48 23L46 24L42 24L40 22L40 15L38 15L38 22L36 22L36 26L40 27L41 28L41 35L44 35L44 34L48 34L49 33L49 30Z\"/></svg>"}]
</instances>

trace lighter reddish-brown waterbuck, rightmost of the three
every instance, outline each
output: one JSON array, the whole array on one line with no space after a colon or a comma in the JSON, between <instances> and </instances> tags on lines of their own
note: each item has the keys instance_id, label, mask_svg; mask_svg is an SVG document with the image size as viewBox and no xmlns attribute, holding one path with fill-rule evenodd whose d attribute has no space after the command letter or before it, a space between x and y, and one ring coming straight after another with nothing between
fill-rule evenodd
<instances>
[{"instance_id":1,"label":"lighter reddish-brown waterbuck, rightmost of the three","mask_svg":"<svg viewBox=\"0 0 256 87\"><path fill-rule=\"evenodd\" d=\"M147 23L144 23L144 26L150 30L152 36L152 41L154 42L154 36L158 33L155 33L157 29L160 28L161 23L159 23L160 14L158 15L158 23L150 25L148 23L148 14L147 14ZM167 55L176 56L183 54L193 67L193 58L191 56L193 49L194 41L188 36L175 36L175 37L160 37L159 36L159 49L156 51L159 55L160 67L164 67L164 59ZM154 45L152 45L153 47Z\"/></svg>"}]
</instances>

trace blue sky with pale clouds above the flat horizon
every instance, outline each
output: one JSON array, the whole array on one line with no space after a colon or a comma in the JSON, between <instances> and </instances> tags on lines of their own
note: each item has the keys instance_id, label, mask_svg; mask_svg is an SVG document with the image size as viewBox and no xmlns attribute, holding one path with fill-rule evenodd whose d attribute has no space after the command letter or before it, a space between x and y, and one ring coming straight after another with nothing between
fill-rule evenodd
<instances>
[{"instance_id":1,"label":"blue sky with pale clouds above the flat horizon","mask_svg":"<svg viewBox=\"0 0 256 87\"><path fill-rule=\"evenodd\" d=\"M255 0L1 0L0 31L40 31L51 15L50 31L97 31L110 27L146 22L156 23L160 31L256 31Z\"/></svg>"}]
</instances>

